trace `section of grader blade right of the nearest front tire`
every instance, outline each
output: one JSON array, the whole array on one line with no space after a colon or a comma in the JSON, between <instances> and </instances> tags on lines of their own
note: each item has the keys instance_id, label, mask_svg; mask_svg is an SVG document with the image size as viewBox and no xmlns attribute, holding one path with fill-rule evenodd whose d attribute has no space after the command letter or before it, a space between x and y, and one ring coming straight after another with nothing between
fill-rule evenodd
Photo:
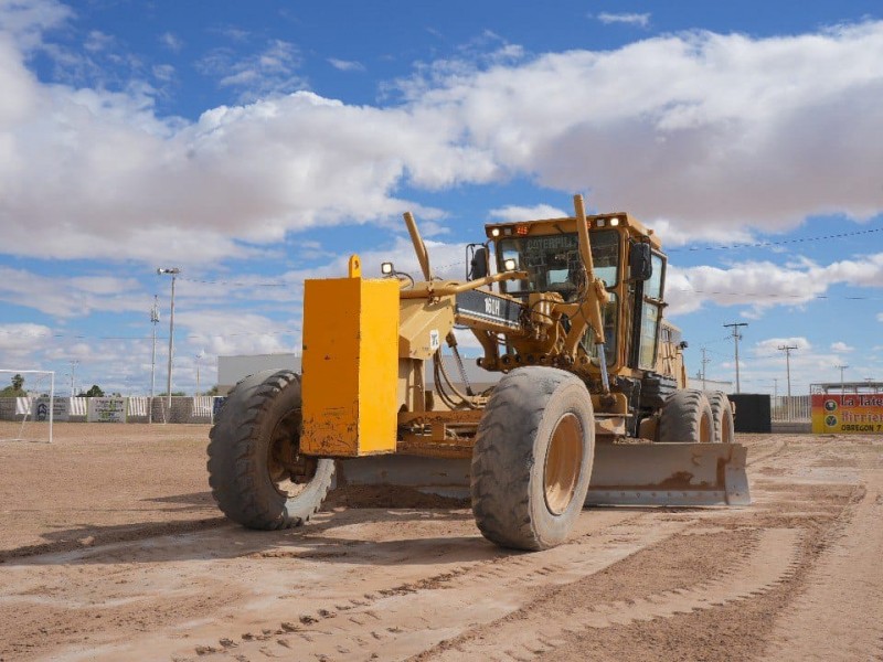
<instances>
[{"instance_id":1,"label":"section of grader blade right of the nearest front tire","mask_svg":"<svg viewBox=\"0 0 883 662\"><path fill-rule=\"evenodd\" d=\"M749 505L740 444L598 444L586 505Z\"/></svg>"}]
</instances>

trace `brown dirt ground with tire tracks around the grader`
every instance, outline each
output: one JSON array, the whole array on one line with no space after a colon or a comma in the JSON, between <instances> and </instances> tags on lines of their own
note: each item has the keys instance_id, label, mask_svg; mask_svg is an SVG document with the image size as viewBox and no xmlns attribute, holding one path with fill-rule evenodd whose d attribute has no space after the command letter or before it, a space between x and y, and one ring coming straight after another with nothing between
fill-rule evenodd
<instances>
[{"instance_id":1,"label":"brown dirt ground with tire tracks around the grader","mask_svg":"<svg viewBox=\"0 0 883 662\"><path fill-rule=\"evenodd\" d=\"M208 431L0 442L1 662L883 660L883 437L738 436L752 506L585 510L526 554L412 493L243 530Z\"/></svg>"}]
</instances>

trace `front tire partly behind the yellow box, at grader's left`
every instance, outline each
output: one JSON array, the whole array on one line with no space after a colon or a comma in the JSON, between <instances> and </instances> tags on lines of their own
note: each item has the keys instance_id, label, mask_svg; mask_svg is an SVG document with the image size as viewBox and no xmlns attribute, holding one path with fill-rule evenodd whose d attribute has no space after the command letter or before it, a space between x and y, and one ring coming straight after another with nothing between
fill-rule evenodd
<instances>
[{"instance_id":1,"label":"front tire partly behind the yellow box, at grader's left","mask_svg":"<svg viewBox=\"0 0 883 662\"><path fill-rule=\"evenodd\" d=\"M300 403L300 377L269 370L236 384L217 413L209 442L209 484L234 522L288 528L307 522L321 505L334 461L298 453ZM295 463L300 469L291 473Z\"/></svg>"}]
</instances>

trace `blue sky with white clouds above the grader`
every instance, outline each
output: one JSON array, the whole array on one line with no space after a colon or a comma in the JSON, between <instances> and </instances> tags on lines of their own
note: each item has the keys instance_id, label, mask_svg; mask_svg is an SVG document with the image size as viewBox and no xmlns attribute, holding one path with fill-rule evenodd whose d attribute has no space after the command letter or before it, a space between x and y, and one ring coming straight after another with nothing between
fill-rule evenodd
<instances>
[{"instance_id":1,"label":"blue sky with white clouds above the grader","mask_svg":"<svg viewBox=\"0 0 883 662\"><path fill-rule=\"evenodd\" d=\"M205 389L299 350L305 278L417 271L403 212L462 278L583 193L661 237L691 375L745 323L743 393L781 346L794 394L883 381L881 63L863 0L0 0L0 369L146 395L156 332L164 391L174 267Z\"/></svg>"}]
</instances>

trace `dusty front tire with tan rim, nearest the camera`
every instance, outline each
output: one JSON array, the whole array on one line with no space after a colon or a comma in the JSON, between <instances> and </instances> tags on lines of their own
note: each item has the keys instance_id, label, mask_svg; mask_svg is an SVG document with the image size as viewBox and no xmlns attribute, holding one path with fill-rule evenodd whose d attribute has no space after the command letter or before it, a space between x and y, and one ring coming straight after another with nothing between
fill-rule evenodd
<instances>
[{"instance_id":1,"label":"dusty front tire with tan rim, nearest the camera","mask_svg":"<svg viewBox=\"0 0 883 662\"><path fill-rule=\"evenodd\" d=\"M493 389L472 449L478 528L514 549L563 543L583 510L594 456L585 384L552 367L513 370Z\"/></svg>"}]
</instances>

